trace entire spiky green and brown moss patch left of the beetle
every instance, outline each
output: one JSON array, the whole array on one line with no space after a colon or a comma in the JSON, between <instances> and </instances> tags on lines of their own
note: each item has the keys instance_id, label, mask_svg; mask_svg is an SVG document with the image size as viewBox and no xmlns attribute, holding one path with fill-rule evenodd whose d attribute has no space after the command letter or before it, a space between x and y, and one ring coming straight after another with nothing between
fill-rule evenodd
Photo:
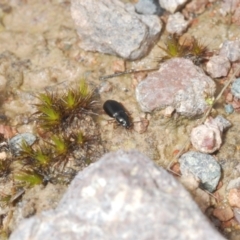
<instances>
[{"instance_id":1,"label":"entire spiky green and brown moss patch left of the beetle","mask_svg":"<svg viewBox=\"0 0 240 240\"><path fill-rule=\"evenodd\" d=\"M69 183L83 165L91 162L89 150L98 141L87 129L89 116L96 111L96 97L85 80L75 88L46 91L37 98L33 117L41 136L32 146L23 141L19 156L0 161L0 176L11 175L18 187Z\"/></svg>"}]
</instances>

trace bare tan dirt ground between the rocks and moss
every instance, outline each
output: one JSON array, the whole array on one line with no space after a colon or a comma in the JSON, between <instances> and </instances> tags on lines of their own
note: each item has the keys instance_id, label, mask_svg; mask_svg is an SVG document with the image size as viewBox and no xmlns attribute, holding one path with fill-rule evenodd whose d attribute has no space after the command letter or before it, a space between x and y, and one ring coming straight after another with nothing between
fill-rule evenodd
<instances>
[{"instance_id":1,"label":"bare tan dirt ground between the rocks and moss","mask_svg":"<svg viewBox=\"0 0 240 240\"><path fill-rule=\"evenodd\" d=\"M44 2L44 4L42 4ZM218 50L226 39L239 36L239 26L229 23L228 16L219 14L221 1L209 4L200 15L196 15L187 34L200 39L210 50ZM81 50L79 38L70 14L70 1L59 0L10 0L0 1L0 114L19 133L33 132L34 123L29 116L36 111L36 93L45 89L55 91L66 88L85 77L99 92L99 104L107 99L121 102L136 122L134 129L127 131L121 126L109 123L109 117L99 111L97 126L105 152L117 149L139 149L158 165L167 167L189 139L189 133L197 119L186 119L173 115L165 117L163 111L151 114L141 112L135 98L135 86L146 73L124 75L108 80L100 76L126 69L145 69L157 66L157 59L163 52L157 44L150 54L139 61L125 62L115 56L91 53ZM211 31L209 30L211 29ZM158 44L163 44L166 33ZM222 81L216 80L218 90ZM226 115L224 97L214 106L214 115L223 114L232 123L224 134L224 143L215 154L223 168L223 186L240 176L237 171L240 159L239 113ZM145 129L140 120L149 122ZM10 183L3 179L1 194L7 194ZM53 190L54 189L54 190ZM0 209L3 230L12 231L22 216L28 217L57 205L66 186L36 186L25 189L15 205ZM40 200L40 197L46 199ZM42 194L43 193L43 194ZM219 193L223 200L225 192ZM49 201L49 199L51 201ZM219 226L220 227L220 226ZM229 239L240 230L239 224L221 228Z\"/></svg>"}]
</instances>

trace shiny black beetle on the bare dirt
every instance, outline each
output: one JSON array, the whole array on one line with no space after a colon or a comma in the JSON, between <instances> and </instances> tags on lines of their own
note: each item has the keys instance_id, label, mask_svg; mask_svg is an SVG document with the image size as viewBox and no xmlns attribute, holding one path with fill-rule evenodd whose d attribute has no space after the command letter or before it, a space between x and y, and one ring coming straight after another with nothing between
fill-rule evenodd
<instances>
[{"instance_id":1,"label":"shiny black beetle on the bare dirt","mask_svg":"<svg viewBox=\"0 0 240 240\"><path fill-rule=\"evenodd\" d=\"M121 103L115 100L107 100L103 104L103 109L108 116L115 118L123 127L130 128L132 126L131 120Z\"/></svg>"}]
</instances>

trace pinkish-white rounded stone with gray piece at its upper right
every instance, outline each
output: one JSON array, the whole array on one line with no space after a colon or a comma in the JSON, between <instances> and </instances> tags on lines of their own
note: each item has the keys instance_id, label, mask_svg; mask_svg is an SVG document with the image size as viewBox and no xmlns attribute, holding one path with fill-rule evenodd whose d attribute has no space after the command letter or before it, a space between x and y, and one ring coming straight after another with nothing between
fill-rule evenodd
<instances>
[{"instance_id":1,"label":"pinkish-white rounded stone with gray piece at its upper right","mask_svg":"<svg viewBox=\"0 0 240 240\"><path fill-rule=\"evenodd\" d=\"M191 143L197 151L213 153L222 145L222 132L231 124L222 116L208 118L204 124L192 129Z\"/></svg>"}]
</instances>

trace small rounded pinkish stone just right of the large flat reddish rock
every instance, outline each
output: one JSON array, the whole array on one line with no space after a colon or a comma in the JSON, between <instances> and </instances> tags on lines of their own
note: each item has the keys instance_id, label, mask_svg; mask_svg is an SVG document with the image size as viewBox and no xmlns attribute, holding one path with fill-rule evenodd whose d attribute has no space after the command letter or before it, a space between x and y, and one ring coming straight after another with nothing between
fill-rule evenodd
<instances>
[{"instance_id":1,"label":"small rounded pinkish stone just right of the large flat reddish rock","mask_svg":"<svg viewBox=\"0 0 240 240\"><path fill-rule=\"evenodd\" d=\"M212 78L226 77L231 64L227 57L213 56L207 62L206 70Z\"/></svg>"}]
</instances>

